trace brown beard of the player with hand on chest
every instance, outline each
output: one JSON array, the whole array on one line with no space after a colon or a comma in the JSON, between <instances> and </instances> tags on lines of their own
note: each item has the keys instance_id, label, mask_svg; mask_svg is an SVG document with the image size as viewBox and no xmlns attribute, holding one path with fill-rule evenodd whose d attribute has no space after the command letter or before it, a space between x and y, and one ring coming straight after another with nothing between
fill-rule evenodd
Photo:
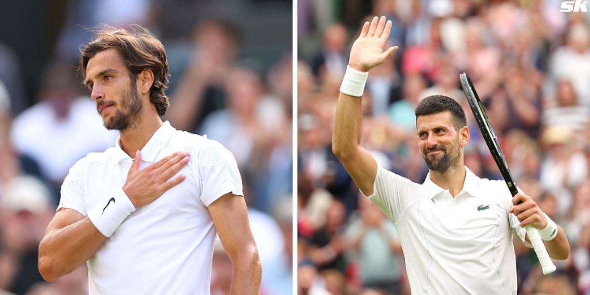
<instances>
[{"instance_id":1,"label":"brown beard of the player with hand on chest","mask_svg":"<svg viewBox=\"0 0 590 295\"><path fill-rule=\"evenodd\" d=\"M123 100L113 116L110 116L108 119L103 118L104 127L106 127L107 130L124 131L130 126L133 120L139 117L139 114L143 109L143 104L139 99L137 89L135 89L135 80L132 81L133 83L130 89L123 92ZM113 106L116 105L117 104L113 104Z\"/></svg>"}]
</instances>

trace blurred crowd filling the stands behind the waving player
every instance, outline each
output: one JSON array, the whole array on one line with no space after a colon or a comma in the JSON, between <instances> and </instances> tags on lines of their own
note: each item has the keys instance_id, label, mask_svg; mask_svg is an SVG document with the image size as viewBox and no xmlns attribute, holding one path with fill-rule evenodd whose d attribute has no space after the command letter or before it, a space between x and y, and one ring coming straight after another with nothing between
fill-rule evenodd
<instances>
[{"instance_id":1,"label":"blurred crowd filling the stands behind the waving player","mask_svg":"<svg viewBox=\"0 0 590 295\"><path fill-rule=\"evenodd\" d=\"M486 107L512 175L566 231L568 260L543 276L515 241L519 294L590 294L590 14L560 0L299 0L297 244L300 294L409 294L392 222L359 193L331 152L350 45L375 15L393 22L392 58L369 71L362 145L422 183L414 108L442 94L466 110L465 163L501 179L458 76Z\"/></svg>"}]
</instances>

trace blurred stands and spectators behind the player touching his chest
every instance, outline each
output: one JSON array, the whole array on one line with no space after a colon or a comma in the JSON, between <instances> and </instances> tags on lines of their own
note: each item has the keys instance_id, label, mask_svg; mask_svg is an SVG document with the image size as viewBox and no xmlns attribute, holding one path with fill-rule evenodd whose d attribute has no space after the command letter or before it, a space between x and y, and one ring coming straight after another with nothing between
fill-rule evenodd
<instances>
[{"instance_id":1,"label":"blurred stands and spectators behind the player touching his chest","mask_svg":"<svg viewBox=\"0 0 590 295\"><path fill-rule=\"evenodd\" d=\"M290 1L0 1L0 294L86 294L86 265L54 283L37 247L68 169L113 146L76 66L87 27L140 24L165 45L165 115L238 160L264 268L262 294L291 293ZM212 294L231 264L214 255Z\"/></svg>"}]
</instances>

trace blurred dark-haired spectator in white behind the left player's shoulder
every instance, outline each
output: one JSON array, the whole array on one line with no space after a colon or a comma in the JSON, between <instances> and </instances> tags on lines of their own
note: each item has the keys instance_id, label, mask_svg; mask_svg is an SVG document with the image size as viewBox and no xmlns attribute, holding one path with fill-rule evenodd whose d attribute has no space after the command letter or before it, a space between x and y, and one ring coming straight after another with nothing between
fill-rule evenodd
<instances>
[{"instance_id":1,"label":"blurred dark-haired spectator in white behind the left player's shoulder","mask_svg":"<svg viewBox=\"0 0 590 295\"><path fill-rule=\"evenodd\" d=\"M96 104L83 96L74 67L55 62L43 77L40 101L15 117L11 141L18 153L38 163L42 176L59 191L77 160L112 146L117 134L104 128Z\"/></svg>"}]
</instances>

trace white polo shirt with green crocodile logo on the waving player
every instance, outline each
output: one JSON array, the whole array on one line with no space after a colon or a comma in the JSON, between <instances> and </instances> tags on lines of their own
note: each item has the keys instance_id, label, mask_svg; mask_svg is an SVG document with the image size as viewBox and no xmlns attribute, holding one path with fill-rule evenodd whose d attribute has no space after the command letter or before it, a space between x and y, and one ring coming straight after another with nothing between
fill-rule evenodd
<instances>
[{"instance_id":1,"label":"white polo shirt with green crocodile logo on the waving player","mask_svg":"<svg viewBox=\"0 0 590 295\"><path fill-rule=\"evenodd\" d=\"M508 212L512 195L466 170L453 198L430 174L419 184L377 169L368 198L398 229L412 294L516 294L512 238L526 231Z\"/></svg>"}]
</instances>

